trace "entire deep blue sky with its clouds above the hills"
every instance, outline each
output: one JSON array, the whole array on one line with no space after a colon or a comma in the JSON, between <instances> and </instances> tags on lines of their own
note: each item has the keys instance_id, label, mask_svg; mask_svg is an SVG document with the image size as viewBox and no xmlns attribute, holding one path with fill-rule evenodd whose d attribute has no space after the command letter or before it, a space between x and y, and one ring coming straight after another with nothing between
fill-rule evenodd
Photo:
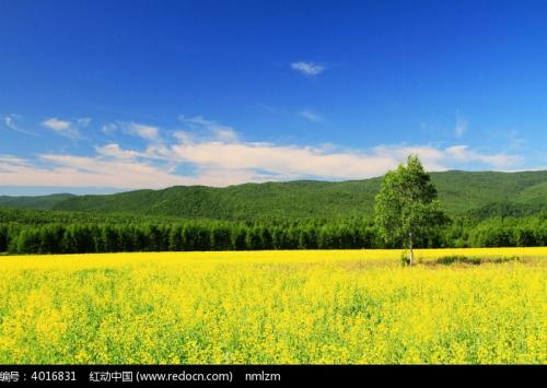
<instances>
[{"instance_id":1,"label":"entire deep blue sky with its clouds above the hills","mask_svg":"<svg viewBox=\"0 0 547 388\"><path fill-rule=\"evenodd\" d=\"M545 1L0 2L0 195L547 168Z\"/></svg>"}]
</instances>

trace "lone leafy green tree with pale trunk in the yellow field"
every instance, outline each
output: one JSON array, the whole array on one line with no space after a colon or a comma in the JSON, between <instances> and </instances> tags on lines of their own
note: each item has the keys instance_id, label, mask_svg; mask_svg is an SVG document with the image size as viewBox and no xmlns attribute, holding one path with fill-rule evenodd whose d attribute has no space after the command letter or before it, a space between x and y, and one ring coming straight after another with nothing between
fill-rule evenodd
<instances>
[{"instance_id":1,"label":"lone leafy green tree with pale trunk in the yellow field","mask_svg":"<svg viewBox=\"0 0 547 388\"><path fill-rule=\"evenodd\" d=\"M407 263L414 264L414 247L435 233L445 221L437 189L417 155L388 172L374 207L375 222L384 240L408 249Z\"/></svg>"}]
</instances>

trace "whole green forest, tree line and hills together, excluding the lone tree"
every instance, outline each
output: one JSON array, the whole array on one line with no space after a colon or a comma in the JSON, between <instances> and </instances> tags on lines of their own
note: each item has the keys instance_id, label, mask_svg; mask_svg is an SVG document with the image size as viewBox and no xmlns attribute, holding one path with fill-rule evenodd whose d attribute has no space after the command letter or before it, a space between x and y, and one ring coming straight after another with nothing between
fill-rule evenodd
<instances>
[{"instance_id":1,"label":"whole green forest, tree line and hills together, excluding the lone tree","mask_svg":"<svg viewBox=\"0 0 547 388\"><path fill-rule=\"evenodd\" d=\"M547 172L432 173L449 220L418 247L547 245ZM0 251L393 248L372 219L381 178L0 197ZM49 210L40 210L49 209Z\"/></svg>"}]
</instances>

